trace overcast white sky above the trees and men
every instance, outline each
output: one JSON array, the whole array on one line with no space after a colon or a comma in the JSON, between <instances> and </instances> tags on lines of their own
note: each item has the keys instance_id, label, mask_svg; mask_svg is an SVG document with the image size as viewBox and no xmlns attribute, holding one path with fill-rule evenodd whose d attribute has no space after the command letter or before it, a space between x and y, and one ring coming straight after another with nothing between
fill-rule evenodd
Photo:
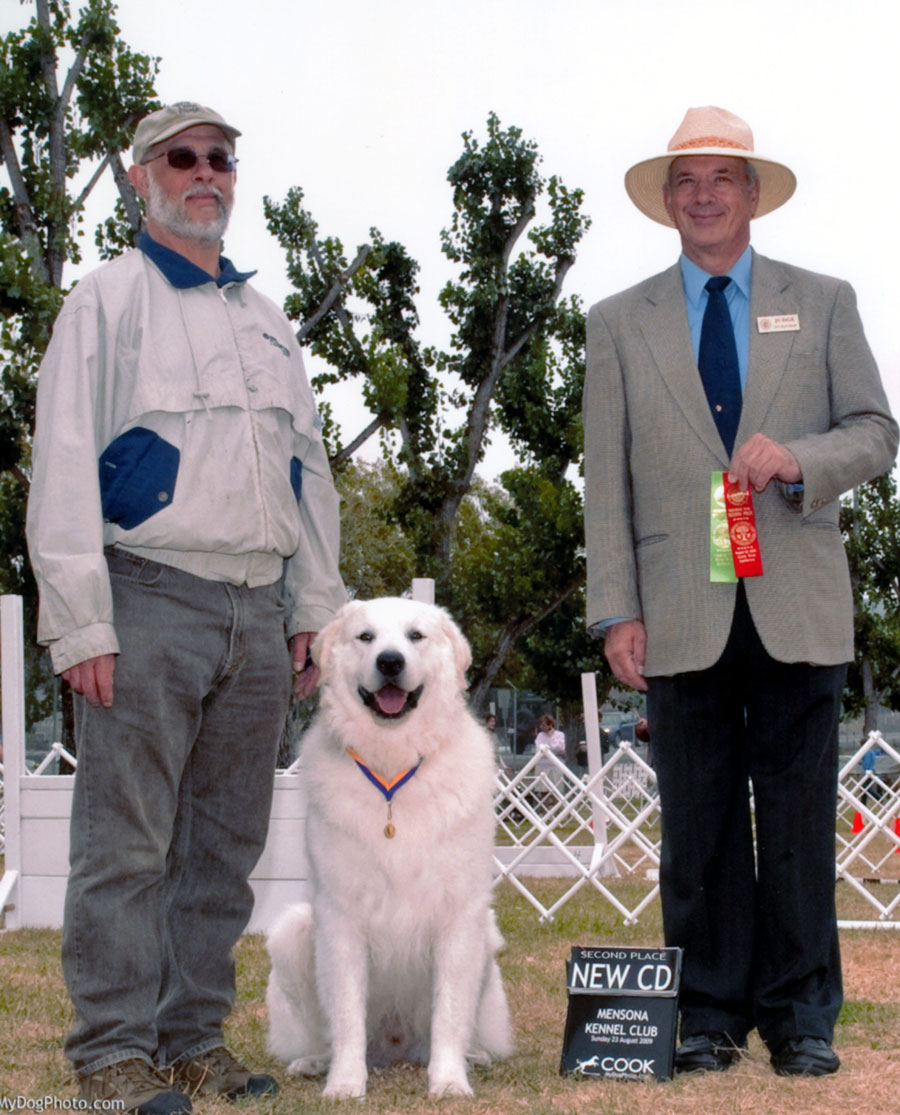
<instances>
[{"instance_id":1,"label":"overcast white sky above the trees and men","mask_svg":"<svg viewBox=\"0 0 900 1115\"><path fill-rule=\"evenodd\" d=\"M0 0L3 29L26 10ZM419 261L425 341L444 333L439 230L463 130L483 135L494 110L538 142L545 175L584 190L593 225L567 292L588 306L675 260L676 233L633 207L622 176L665 151L688 106L722 105L799 180L754 222L754 245L853 283L900 413L896 0L120 0L119 22L162 59L164 100L200 100L244 133L238 266L283 299L261 198L300 185L349 254L377 225Z\"/></svg>"}]
</instances>

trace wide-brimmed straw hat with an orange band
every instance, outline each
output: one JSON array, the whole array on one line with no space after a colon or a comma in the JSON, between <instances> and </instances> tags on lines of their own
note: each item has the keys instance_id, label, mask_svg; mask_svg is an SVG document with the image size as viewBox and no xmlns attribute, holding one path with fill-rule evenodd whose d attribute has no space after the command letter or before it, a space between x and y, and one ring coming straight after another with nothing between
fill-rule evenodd
<instances>
[{"instance_id":1,"label":"wide-brimmed straw hat with an orange band","mask_svg":"<svg viewBox=\"0 0 900 1115\"><path fill-rule=\"evenodd\" d=\"M636 163L625 176L628 196L641 213L670 229L675 227L675 222L666 212L662 186L670 163L679 155L727 155L752 162L759 176L756 216L763 216L784 205L796 188L797 180L793 171L782 163L756 154L753 149L753 132L739 116L714 105L688 108L678 130L669 140L668 153Z\"/></svg>"}]
</instances>

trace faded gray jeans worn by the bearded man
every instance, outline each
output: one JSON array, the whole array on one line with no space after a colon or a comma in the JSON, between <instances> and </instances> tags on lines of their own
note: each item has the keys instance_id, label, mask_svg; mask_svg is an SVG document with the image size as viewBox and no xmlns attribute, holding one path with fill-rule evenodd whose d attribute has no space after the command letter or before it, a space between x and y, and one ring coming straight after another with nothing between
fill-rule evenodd
<instances>
[{"instance_id":1,"label":"faded gray jeans worn by the bearded man","mask_svg":"<svg viewBox=\"0 0 900 1115\"><path fill-rule=\"evenodd\" d=\"M113 708L76 698L62 931L80 1075L221 1044L291 683L280 585L107 561L120 653Z\"/></svg>"}]
</instances>

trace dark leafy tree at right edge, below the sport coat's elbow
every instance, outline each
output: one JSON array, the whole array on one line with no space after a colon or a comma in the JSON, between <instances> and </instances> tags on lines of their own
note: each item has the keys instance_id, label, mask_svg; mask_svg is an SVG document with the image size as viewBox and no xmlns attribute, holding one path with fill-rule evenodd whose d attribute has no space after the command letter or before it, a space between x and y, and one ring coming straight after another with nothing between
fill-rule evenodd
<instances>
[{"instance_id":1,"label":"dark leafy tree at right edge, below the sport coat's elbow","mask_svg":"<svg viewBox=\"0 0 900 1115\"><path fill-rule=\"evenodd\" d=\"M891 473L863 484L841 507L855 605L855 658L844 710L878 728L878 709L900 709L900 501Z\"/></svg>"}]
</instances>

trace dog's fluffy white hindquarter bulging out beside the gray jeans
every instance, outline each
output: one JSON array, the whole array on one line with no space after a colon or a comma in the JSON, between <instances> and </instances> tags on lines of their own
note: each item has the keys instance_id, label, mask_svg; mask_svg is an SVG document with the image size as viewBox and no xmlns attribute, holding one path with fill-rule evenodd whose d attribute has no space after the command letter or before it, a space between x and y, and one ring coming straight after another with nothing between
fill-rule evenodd
<instances>
[{"instance_id":1,"label":"dog's fluffy white hindquarter bulging out beside the gray jeans","mask_svg":"<svg viewBox=\"0 0 900 1115\"><path fill-rule=\"evenodd\" d=\"M288 1070L316 1076L330 1060L316 988L312 908L288 906L267 940L272 971L265 992L269 1048Z\"/></svg>"}]
</instances>

